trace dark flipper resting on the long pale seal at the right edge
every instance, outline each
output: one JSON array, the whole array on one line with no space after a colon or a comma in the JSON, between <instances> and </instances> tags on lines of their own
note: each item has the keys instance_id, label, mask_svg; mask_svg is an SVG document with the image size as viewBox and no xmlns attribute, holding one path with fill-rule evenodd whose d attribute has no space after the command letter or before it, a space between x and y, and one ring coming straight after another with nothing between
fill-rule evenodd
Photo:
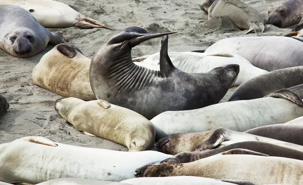
<instances>
[{"instance_id":1,"label":"dark flipper resting on the long pale seal at the right edge","mask_svg":"<svg viewBox=\"0 0 303 185\"><path fill-rule=\"evenodd\" d=\"M266 97L282 98L282 99L289 100L289 101L295 103L299 107L303 107L302 99L300 99L300 97L297 94L295 94L293 91L285 89L285 88L276 90L276 91L272 92L271 94L266 95L264 98L266 98Z\"/></svg>"}]
</instances>

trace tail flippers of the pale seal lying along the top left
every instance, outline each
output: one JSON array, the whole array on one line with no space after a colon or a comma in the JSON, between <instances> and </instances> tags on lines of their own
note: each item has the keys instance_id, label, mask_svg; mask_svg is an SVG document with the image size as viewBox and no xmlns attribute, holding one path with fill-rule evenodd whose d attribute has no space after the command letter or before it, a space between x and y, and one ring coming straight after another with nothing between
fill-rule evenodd
<instances>
[{"instance_id":1,"label":"tail flippers of the pale seal lying along the top left","mask_svg":"<svg viewBox=\"0 0 303 185\"><path fill-rule=\"evenodd\" d=\"M86 17L85 15L80 14L79 17L81 21L76 22L76 24L74 24L74 26L77 28L82 28L82 29L106 28L110 30L116 30L115 28L113 28L108 24L100 23L94 19Z\"/></svg>"}]
</instances>

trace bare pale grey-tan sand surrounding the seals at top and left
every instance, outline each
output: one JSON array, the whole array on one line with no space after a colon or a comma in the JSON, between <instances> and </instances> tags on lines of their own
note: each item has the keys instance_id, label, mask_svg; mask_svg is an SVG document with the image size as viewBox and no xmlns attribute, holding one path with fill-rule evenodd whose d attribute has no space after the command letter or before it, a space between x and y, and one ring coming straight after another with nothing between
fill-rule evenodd
<instances>
[{"instance_id":1,"label":"bare pale grey-tan sand surrounding the seals at top and left","mask_svg":"<svg viewBox=\"0 0 303 185\"><path fill-rule=\"evenodd\" d=\"M129 26L140 26L150 33L164 29L177 31L169 36L169 51L186 52L209 47L216 41L237 36L281 35L291 28L280 29L266 25L264 33L245 34L221 21L208 22L208 15L200 10L204 1L193 0L59 0L76 11L114 26L117 31L107 29L49 29L61 32L65 40L76 45L84 55L92 58L94 53L110 37ZM244 1L255 7L263 17L274 4L282 1ZM132 50L133 57L159 52L161 39L148 40ZM8 143L29 135L45 136L55 142L76 146L127 151L126 147L82 134L67 124L54 109L55 101L61 96L42 89L32 82L32 69L41 57L54 45L36 56L15 58L0 50L0 94L7 98L10 110L0 119L0 143ZM227 94L230 96L230 92ZM226 97L227 97L226 96ZM226 100L225 97L225 100ZM224 101L224 100L223 100Z\"/></svg>"}]
</instances>

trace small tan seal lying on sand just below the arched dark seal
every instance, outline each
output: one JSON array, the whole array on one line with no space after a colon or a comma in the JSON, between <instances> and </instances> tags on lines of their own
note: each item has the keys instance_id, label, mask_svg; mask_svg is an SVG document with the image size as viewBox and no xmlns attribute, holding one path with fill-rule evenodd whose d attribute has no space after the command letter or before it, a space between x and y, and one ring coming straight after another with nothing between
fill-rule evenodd
<instances>
[{"instance_id":1,"label":"small tan seal lying on sand just below the arched dark seal","mask_svg":"<svg viewBox=\"0 0 303 185\"><path fill-rule=\"evenodd\" d=\"M58 100L55 109L77 130L124 145L129 151L143 151L154 145L154 125L129 109L104 100L85 102L77 98Z\"/></svg>"}]
</instances>

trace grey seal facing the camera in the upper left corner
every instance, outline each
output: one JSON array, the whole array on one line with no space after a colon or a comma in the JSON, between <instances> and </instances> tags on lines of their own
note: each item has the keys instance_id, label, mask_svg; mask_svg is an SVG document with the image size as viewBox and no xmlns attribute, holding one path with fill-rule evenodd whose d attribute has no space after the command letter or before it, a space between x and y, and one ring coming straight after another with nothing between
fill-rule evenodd
<instances>
[{"instance_id":1,"label":"grey seal facing the camera in the upper left corner","mask_svg":"<svg viewBox=\"0 0 303 185\"><path fill-rule=\"evenodd\" d=\"M44 50L48 42L64 42L61 34L49 32L20 7L0 5L0 17L0 49L15 57L31 57Z\"/></svg>"}]
</instances>

